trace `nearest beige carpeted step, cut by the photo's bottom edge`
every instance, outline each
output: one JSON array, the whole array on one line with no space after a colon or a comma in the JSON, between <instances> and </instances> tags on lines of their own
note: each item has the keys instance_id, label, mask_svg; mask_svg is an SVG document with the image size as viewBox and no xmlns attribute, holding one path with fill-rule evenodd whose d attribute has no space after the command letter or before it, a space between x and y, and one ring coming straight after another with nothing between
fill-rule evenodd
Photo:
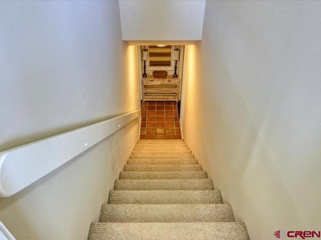
<instances>
[{"instance_id":1,"label":"nearest beige carpeted step, cut by the photo's bottom edge","mask_svg":"<svg viewBox=\"0 0 321 240\"><path fill-rule=\"evenodd\" d=\"M249 240L244 222L96 222L88 240Z\"/></svg>"}]
</instances>

